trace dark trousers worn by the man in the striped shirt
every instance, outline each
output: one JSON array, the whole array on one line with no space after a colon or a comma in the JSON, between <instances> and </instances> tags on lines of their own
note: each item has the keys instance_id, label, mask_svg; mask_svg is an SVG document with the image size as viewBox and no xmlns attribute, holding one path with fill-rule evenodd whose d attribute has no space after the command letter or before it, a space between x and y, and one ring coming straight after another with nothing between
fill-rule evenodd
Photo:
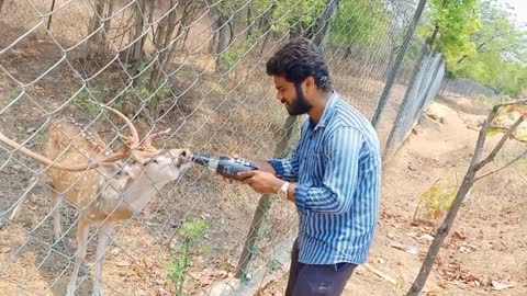
<instances>
[{"instance_id":1,"label":"dark trousers worn by the man in the striped shirt","mask_svg":"<svg viewBox=\"0 0 527 296\"><path fill-rule=\"evenodd\" d=\"M299 244L293 243L285 296L338 296L357 264L304 264L299 262Z\"/></svg>"}]
</instances>

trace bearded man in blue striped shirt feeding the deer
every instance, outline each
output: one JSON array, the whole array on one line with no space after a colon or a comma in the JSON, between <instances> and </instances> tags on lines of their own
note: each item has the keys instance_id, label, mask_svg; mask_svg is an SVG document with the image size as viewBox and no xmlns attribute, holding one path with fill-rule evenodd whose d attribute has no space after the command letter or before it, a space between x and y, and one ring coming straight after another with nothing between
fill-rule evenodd
<instances>
[{"instance_id":1,"label":"bearded man in blue striped shirt feeding the deer","mask_svg":"<svg viewBox=\"0 0 527 296\"><path fill-rule=\"evenodd\" d=\"M332 90L327 66L305 38L267 62L289 114L307 114L291 158L255 161L240 173L259 193L277 193L299 210L285 295L340 295L366 261L378 219L381 159L369 121Z\"/></svg>"}]
</instances>

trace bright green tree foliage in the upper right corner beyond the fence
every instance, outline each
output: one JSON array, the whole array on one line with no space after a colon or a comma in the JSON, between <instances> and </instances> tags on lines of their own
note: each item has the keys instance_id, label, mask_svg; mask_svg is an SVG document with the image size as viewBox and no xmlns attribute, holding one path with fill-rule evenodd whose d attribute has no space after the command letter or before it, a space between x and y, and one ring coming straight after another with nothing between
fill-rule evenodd
<instances>
[{"instance_id":1,"label":"bright green tree foliage in the upper right corner beyond the fence","mask_svg":"<svg viewBox=\"0 0 527 296\"><path fill-rule=\"evenodd\" d=\"M511 96L527 88L527 32L494 0L433 0L431 21L421 30L445 54L449 73L470 78Z\"/></svg>"}]
</instances>

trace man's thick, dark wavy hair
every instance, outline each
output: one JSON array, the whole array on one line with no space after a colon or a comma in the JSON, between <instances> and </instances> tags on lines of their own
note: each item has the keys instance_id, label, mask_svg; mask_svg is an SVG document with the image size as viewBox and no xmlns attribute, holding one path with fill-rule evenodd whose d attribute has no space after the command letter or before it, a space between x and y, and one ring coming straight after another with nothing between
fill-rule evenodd
<instances>
[{"instance_id":1,"label":"man's thick, dark wavy hair","mask_svg":"<svg viewBox=\"0 0 527 296\"><path fill-rule=\"evenodd\" d=\"M295 84L312 76L318 89L329 91L332 88L324 57L315 45L304 37L291 39L282 46L267 61L266 69L267 75L281 76Z\"/></svg>"}]
</instances>

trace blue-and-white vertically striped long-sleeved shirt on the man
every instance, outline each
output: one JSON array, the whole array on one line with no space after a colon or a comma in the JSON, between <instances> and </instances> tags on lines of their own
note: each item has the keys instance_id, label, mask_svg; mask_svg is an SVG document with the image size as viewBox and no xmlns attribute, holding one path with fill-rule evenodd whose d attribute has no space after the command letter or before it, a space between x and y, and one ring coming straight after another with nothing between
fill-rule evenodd
<instances>
[{"instance_id":1,"label":"blue-and-white vertically striped long-sleeved shirt on the man","mask_svg":"<svg viewBox=\"0 0 527 296\"><path fill-rule=\"evenodd\" d=\"M334 92L319 122L309 118L291 158L269 163L298 182L299 262L363 263L379 212L381 158L370 122Z\"/></svg>"}]
</instances>

